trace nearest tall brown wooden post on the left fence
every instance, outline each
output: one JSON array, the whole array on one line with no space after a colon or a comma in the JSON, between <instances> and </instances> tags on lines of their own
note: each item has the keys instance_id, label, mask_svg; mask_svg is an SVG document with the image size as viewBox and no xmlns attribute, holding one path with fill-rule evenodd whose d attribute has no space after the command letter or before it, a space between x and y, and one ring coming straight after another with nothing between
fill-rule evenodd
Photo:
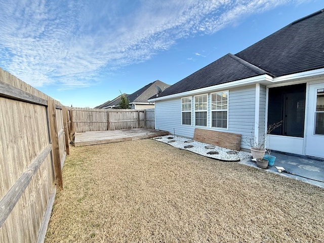
<instances>
[{"instance_id":1,"label":"nearest tall brown wooden post on the left fence","mask_svg":"<svg viewBox=\"0 0 324 243\"><path fill-rule=\"evenodd\" d=\"M54 100L48 100L49 125L52 143L52 159L55 183L58 188L63 189L62 168L60 158L59 137L56 124L56 108Z\"/></svg>"}]
</instances>

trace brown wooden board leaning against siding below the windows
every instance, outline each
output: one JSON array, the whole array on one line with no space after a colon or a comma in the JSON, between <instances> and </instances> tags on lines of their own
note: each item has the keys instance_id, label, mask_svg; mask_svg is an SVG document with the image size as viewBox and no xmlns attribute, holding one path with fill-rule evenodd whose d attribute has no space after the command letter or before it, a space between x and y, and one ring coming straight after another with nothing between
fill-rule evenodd
<instances>
[{"instance_id":1,"label":"brown wooden board leaning against siding below the windows","mask_svg":"<svg viewBox=\"0 0 324 243\"><path fill-rule=\"evenodd\" d=\"M193 140L239 151L241 135L195 128Z\"/></svg>"}]
</instances>

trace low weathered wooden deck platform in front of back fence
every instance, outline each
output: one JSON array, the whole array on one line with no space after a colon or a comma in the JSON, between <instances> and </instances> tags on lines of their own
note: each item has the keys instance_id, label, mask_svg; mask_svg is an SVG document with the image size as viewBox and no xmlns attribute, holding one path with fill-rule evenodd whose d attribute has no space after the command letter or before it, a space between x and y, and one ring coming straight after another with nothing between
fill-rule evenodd
<instances>
[{"instance_id":1,"label":"low weathered wooden deck platform in front of back fence","mask_svg":"<svg viewBox=\"0 0 324 243\"><path fill-rule=\"evenodd\" d=\"M74 146L114 143L165 135L169 135L169 132L144 128L75 133Z\"/></svg>"}]
</instances>

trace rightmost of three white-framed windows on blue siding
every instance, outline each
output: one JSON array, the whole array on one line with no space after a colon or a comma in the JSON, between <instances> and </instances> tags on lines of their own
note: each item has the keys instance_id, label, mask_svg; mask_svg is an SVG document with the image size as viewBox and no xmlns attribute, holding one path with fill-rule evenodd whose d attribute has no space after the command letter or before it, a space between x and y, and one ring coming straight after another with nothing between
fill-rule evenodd
<instances>
[{"instance_id":1,"label":"rightmost of three white-framed windows on blue siding","mask_svg":"<svg viewBox=\"0 0 324 243\"><path fill-rule=\"evenodd\" d=\"M211 94L212 128L227 129L228 91Z\"/></svg>"}]
</instances>

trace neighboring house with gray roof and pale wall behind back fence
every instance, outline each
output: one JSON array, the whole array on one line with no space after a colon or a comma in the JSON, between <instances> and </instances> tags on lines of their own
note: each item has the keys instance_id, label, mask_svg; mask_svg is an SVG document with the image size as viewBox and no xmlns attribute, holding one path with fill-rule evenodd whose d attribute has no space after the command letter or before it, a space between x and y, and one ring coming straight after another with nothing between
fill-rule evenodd
<instances>
[{"instance_id":1,"label":"neighboring house with gray roof and pale wall behind back fence","mask_svg":"<svg viewBox=\"0 0 324 243\"><path fill-rule=\"evenodd\" d=\"M144 86L143 88L135 91L133 94L123 94L125 97L130 101L130 108L131 109L150 109L154 108L154 102L148 101L148 98L150 98L153 95L156 95L158 89L161 91L164 91L166 88L170 87L170 85L167 85L166 83L161 82L160 80L155 80L152 83L149 83L148 85ZM97 106L98 108L117 108L120 103L121 95L113 99L112 101L105 102L104 104ZM95 108L97 108L95 107Z\"/></svg>"}]
</instances>

